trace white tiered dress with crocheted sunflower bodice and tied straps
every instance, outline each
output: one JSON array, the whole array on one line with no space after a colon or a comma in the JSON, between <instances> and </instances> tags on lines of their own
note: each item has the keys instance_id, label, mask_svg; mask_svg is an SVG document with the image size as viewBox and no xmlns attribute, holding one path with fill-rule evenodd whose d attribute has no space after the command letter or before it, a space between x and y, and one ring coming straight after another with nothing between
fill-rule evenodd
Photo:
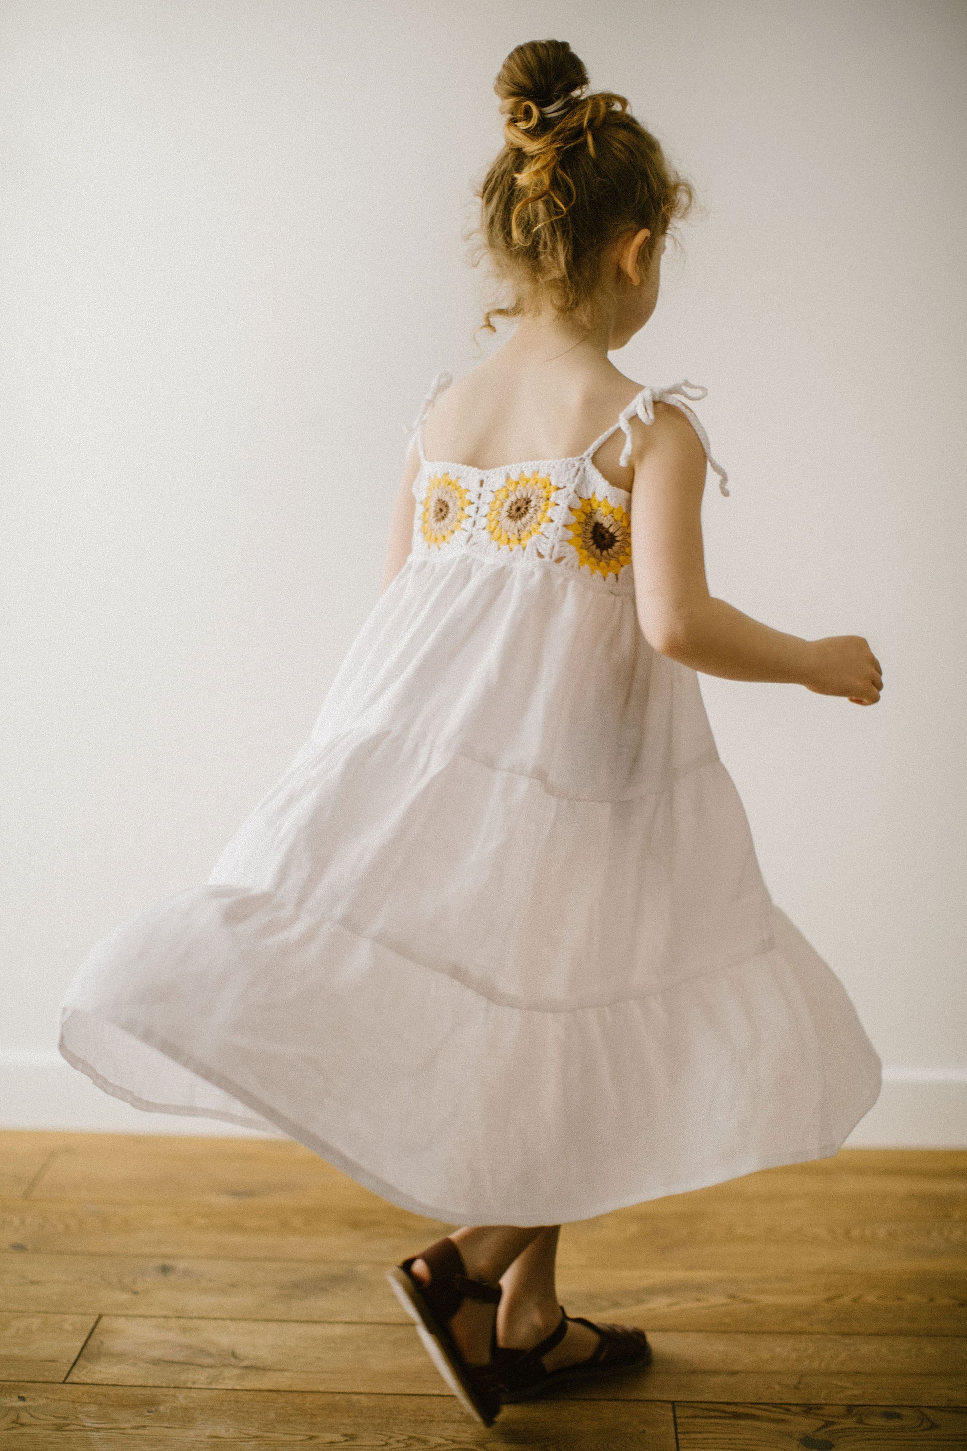
<instances>
[{"instance_id":1,"label":"white tiered dress with crocheted sunflower bodice and tied straps","mask_svg":"<svg viewBox=\"0 0 967 1451\"><path fill-rule=\"evenodd\" d=\"M593 454L428 461L413 550L207 885L103 939L61 1052L404 1209L549 1225L835 1154L880 1061L773 904ZM710 460L721 476L725 474Z\"/></svg>"}]
</instances>

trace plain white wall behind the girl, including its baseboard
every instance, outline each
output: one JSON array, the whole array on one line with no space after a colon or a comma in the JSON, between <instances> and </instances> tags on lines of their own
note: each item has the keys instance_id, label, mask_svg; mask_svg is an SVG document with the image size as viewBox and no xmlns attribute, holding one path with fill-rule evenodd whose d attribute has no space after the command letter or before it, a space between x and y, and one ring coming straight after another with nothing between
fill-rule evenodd
<instances>
[{"instance_id":1,"label":"plain white wall behind the girl, including its baseboard","mask_svg":"<svg viewBox=\"0 0 967 1451\"><path fill-rule=\"evenodd\" d=\"M57 1004L307 734L402 427L476 358L493 77L557 35L705 203L616 361L709 387L712 591L884 667L874 710L703 678L767 884L886 1065L855 1142L967 1143L963 4L7 0L0 30L0 1122L200 1126L72 1074Z\"/></svg>"}]
</instances>

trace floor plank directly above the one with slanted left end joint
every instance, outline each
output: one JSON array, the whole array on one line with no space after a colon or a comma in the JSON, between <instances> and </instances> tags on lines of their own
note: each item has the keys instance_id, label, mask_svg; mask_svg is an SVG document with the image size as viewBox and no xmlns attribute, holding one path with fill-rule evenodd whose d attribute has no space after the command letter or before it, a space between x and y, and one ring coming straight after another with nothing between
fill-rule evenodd
<instances>
[{"instance_id":1,"label":"floor plank directly above the one with slanted left end joint","mask_svg":"<svg viewBox=\"0 0 967 1451\"><path fill-rule=\"evenodd\" d=\"M406 1323L384 1265L300 1259L0 1254L9 1310ZM565 1267L573 1315L668 1331L967 1333L967 1274L723 1275Z\"/></svg>"}]
</instances>

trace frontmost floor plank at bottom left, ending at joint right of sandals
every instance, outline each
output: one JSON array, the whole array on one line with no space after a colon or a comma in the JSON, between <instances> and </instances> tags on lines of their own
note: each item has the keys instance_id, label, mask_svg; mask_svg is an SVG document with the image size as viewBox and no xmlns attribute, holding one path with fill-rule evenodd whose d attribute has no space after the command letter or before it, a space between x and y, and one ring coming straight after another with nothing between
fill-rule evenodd
<instances>
[{"instance_id":1,"label":"frontmost floor plank at bottom left, ending at joint right of sandals","mask_svg":"<svg viewBox=\"0 0 967 1451\"><path fill-rule=\"evenodd\" d=\"M452 1396L333 1396L117 1386L0 1387L0 1438L17 1451L352 1447L354 1451L676 1451L670 1405L548 1400L484 1429Z\"/></svg>"}]
</instances>

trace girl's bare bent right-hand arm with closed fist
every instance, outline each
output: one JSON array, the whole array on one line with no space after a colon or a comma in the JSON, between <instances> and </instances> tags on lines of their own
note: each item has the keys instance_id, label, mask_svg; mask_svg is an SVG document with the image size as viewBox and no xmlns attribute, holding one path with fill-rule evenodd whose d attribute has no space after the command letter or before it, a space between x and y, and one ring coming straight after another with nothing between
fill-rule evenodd
<instances>
[{"instance_id":1,"label":"girl's bare bent right-hand arm with closed fist","mask_svg":"<svg viewBox=\"0 0 967 1451\"><path fill-rule=\"evenodd\" d=\"M805 685L857 705L880 699L880 662L861 636L802 640L709 595L700 519L706 459L680 409L655 405L655 422L635 428L632 461L635 605L655 650L731 681Z\"/></svg>"}]
</instances>

